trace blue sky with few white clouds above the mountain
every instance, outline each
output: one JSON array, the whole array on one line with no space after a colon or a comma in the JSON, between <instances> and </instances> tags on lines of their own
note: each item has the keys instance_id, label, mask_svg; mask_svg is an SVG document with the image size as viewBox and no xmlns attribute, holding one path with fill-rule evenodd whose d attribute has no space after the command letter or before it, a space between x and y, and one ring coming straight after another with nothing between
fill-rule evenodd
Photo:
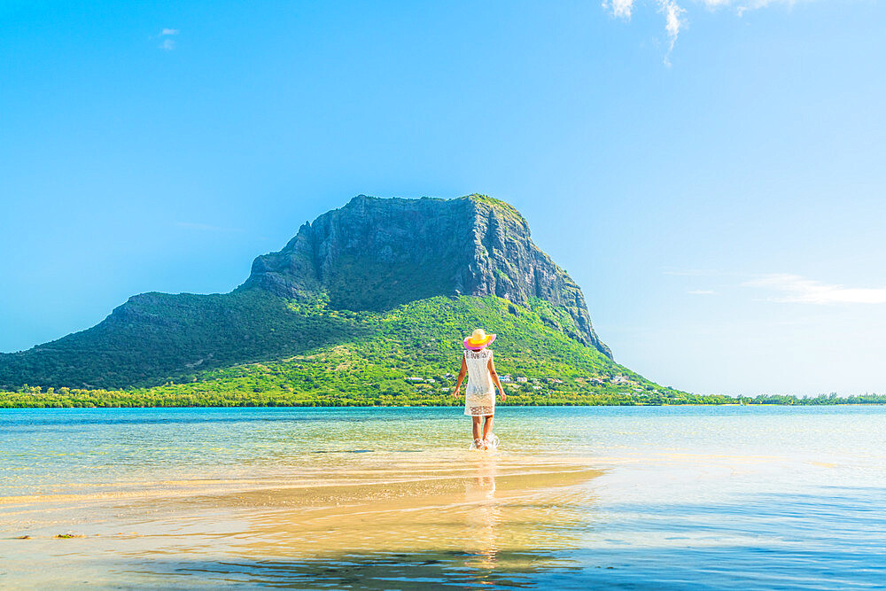
<instances>
[{"instance_id":1,"label":"blue sky with few white clouds above the mountain","mask_svg":"<svg viewBox=\"0 0 886 591\"><path fill-rule=\"evenodd\" d=\"M173 4L0 3L0 351L483 192L652 379L886 391L886 4Z\"/></svg>"}]
</instances>

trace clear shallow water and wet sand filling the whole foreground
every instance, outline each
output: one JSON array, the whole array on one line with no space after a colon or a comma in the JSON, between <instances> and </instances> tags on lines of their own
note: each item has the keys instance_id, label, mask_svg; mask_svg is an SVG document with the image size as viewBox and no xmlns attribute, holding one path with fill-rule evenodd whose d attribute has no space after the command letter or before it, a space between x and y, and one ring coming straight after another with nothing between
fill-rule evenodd
<instances>
[{"instance_id":1,"label":"clear shallow water and wet sand filling the whole foreground","mask_svg":"<svg viewBox=\"0 0 886 591\"><path fill-rule=\"evenodd\" d=\"M886 586L886 408L500 408L495 432L4 410L0 587Z\"/></svg>"}]
</instances>

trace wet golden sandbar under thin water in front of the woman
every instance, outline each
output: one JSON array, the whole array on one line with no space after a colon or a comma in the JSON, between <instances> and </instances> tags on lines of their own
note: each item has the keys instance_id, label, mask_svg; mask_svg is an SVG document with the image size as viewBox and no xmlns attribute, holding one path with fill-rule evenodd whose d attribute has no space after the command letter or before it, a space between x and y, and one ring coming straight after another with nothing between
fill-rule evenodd
<instances>
[{"instance_id":1,"label":"wet golden sandbar under thin water in front of the woman","mask_svg":"<svg viewBox=\"0 0 886 591\"><path fill-rule=\"evenodd\" d=\"M458 455L367 462L367 454L351 467L289 481L191 479L4 497L0 580L16 587L195 587L257 576L268 584L283 577L300 587L335 587L359 577L384 587L384 572L414 564L408 580L395 585L409 587L435 577L442 584L441 571L454 560L471 577L498 571L499 578L556 563L543 559L544 550L570 545L579 515L571 516L569 505L587 502L581 485L600 470L574 459ZM415 580L416 569L437 574Z\"/></svg>"}]
</instances>

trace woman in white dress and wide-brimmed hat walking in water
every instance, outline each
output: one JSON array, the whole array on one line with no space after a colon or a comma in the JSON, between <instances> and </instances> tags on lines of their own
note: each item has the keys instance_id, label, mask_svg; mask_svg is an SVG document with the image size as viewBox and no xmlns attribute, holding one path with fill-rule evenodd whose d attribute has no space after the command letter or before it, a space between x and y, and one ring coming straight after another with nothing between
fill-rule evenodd
<instances>
[{"instance_id":1,"label":"woman in white dress and wide-brimmed hat walking in water","mask_svg":"<svg viewBox=\"0 0 886 591\"><path fill-rule=\"evenodd\" d=\"M504 388L498 374L495 373L493 351L487 349L495 340L495 335L487 335L483 329L474 330L470 337L464 339L464 356L462 369L458 372L455 382L454 397L462 387L464 375L468 375L468 385L464 392L464 414L474 420L474 442L471 449L490 449L498 446L498 438L493 434L493 416L495 413L495 387L501 393L501 400L506 398ZM482 425L481 425L482 422Z\"/></svg>"}]
</instances>

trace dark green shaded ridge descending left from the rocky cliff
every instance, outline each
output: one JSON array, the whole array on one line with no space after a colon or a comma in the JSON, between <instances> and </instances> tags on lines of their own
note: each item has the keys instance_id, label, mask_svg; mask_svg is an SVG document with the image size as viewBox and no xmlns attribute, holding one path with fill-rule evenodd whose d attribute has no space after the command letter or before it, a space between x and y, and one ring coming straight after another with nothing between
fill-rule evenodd
<instances>
[{"instance_id":1,"label":"dark green shaded ridge descending left from the rocky cliff","mask_svg":"<svg viewBox=\"0 0 886 591\"><path fill-rule=\"evenodd\" d=\"M344 316L305 314L262 290L144 293L97 326L0 354L0 387L117 390L191 379L199 370L299 354L359 338ZM12 386L12 387L11 387Z\"/></svg>"}]
</instances>

